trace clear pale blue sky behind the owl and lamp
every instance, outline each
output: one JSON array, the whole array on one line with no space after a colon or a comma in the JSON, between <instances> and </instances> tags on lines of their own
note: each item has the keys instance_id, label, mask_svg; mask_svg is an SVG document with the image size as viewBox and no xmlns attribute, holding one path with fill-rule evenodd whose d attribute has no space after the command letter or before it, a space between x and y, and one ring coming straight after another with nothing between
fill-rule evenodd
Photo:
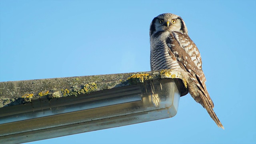
<instances>
[{"instance_id":1,"label":"clear pale blue sky behind the owl and lamp","mask_svg":"<svg viewBox=\"0 0 256 144\"><path fill-rule=\"evenodd\" d=\"M32 144L256 143L256 1L0 1L0 81L150 71L149 26L181 16L225 130L188 94L178 114Z\"/></svg>"}]
</instances>

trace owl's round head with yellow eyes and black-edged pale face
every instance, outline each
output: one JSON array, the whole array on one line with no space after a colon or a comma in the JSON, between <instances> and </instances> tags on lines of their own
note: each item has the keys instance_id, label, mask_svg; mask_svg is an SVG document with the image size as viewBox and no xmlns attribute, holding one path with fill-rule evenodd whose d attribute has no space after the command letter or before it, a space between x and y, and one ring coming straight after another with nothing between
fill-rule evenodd
<instances>
[{"instance_id":1,"label":"owl's round head with yellow eyes and black-edged pale face","mask_svg":"<svg viewBox=\"0 0 256 144\"><path fill-rule=\"evenodd\" d=\"M185 22L180 16L171 13L160 14L150 24L150 36L157 32L174 31L188 34Z\"/></svg>"}]
</instances>

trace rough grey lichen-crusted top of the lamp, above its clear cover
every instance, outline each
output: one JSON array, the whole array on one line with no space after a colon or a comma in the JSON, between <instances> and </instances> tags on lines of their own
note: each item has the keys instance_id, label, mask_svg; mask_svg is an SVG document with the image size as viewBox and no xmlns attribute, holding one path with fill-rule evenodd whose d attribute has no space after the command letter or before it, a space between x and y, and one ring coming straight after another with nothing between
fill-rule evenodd
<instances>
[{"instance_id":1,"label":"rough grey lichen-crusted top of the lamp, above its clear cover","mask_svg":"<svg viewBox=\"0 0 256 144\"><path fill-rule=\"evenodd\" d=\"M172 70L8 81L0 82L0 108L31 102L40 96L49 99L77 96L158 78L180 78L187 87L181 72Z\"/></svg>"}]
</instances>

